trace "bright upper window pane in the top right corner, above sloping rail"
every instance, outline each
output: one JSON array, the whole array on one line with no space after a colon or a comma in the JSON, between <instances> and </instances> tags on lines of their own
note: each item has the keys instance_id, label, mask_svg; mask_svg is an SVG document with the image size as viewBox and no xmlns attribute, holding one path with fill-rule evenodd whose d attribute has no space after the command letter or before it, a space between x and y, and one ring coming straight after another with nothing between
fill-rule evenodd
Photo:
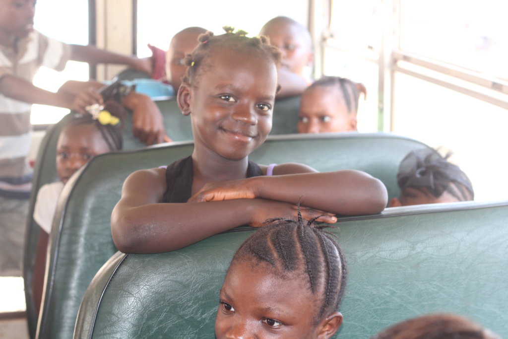
<instances>
[{"instance_id":1,"label":"bright upper window pane in the top right corner, above sloping rail","mask_svg":"<svg viewBox=\"0 0 508 339\"><path fill-rule=\"evenodd\" d=\"M507 12L498 0L400 0L400 49L508 79Z\"/></svg>"}]
</instances>

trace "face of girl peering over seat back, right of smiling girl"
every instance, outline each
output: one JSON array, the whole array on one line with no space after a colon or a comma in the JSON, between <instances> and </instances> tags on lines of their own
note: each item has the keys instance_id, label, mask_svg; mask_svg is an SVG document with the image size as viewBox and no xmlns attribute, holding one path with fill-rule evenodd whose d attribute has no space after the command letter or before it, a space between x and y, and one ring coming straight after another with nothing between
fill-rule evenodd
<instances>
[{"instance_id":1,"label":"face of girl peering over seat back, right of smiling girl","mask_svg":"<svg viewBox=\"0 0 508 339\"><path fill-rule=\"evenodd\" d=\"M335 86L317 86L302 95L298 114L298 133L356 131L356 115Z\"/></svg>"}]
</instances>

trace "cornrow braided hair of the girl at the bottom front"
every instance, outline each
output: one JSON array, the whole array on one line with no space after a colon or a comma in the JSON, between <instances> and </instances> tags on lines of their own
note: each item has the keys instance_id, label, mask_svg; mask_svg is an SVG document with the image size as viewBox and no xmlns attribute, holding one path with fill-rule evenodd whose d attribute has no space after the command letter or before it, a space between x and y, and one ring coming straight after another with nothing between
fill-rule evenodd
<instances>
[{"instance_id":1,"label":"cornrow braided hair of the girl at the bottom front","mask_svg":"<svg viewBox=\"0 0 508 339\"><path fill-rule=\"evenodd\" d=\"M269 220L245 240L235 253L231 265L240 261L268 263L276 276L287 279L291 273L302 276L309 289L320 300L314 323L338 310L344 294L347 267L339 245L323 226L298 220ZM230 267L231 267L230 265Z\"/></svg>"}]
</instances>

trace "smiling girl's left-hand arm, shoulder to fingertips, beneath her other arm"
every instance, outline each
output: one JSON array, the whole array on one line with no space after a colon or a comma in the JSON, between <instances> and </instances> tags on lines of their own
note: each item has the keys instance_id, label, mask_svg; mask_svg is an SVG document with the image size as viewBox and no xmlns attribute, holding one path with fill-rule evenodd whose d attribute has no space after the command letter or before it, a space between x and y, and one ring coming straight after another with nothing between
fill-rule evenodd
<instances>
[{"instance_id":1,"label":"smiling girl's left-hand arm, shoulder to fingertips, beneath her other arm","mask_svg":"<svg viewBox=\"0 0 508 339\"><path fill-rule=\"evenodd\" d=\"M262 226L270 218L296 218L296 206L265 199L206 203L161 203L166 191L163 169L141 170L123 183L111 214L116 247L125 253L159 253L181 249L240 225ZM334 223L330 213L302 208L302 217Z\"/></svg>"}]
</instances>

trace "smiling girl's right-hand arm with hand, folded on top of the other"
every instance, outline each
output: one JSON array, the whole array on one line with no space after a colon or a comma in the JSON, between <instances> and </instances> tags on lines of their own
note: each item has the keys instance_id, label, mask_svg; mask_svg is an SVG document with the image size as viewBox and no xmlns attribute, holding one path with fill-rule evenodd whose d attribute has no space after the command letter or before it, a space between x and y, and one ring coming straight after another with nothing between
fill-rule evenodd
<instances>
[{"instance_id":1,"label":"smiling girl's right-hand arm with hand, folded on top of the other","mask_svg":"<svg viewBox=\"0 0 508 339\"><path fill-rule=\"evenodd\" d=\"M376 214L388 201L385 185L367 173L342 170L302 173L300 164L275 167L273 176L209 182L189 199L192 202L229 199L270 199L341 215ZM305 166L306 167L306 166Z\"/></svg>"}]
</instances>

